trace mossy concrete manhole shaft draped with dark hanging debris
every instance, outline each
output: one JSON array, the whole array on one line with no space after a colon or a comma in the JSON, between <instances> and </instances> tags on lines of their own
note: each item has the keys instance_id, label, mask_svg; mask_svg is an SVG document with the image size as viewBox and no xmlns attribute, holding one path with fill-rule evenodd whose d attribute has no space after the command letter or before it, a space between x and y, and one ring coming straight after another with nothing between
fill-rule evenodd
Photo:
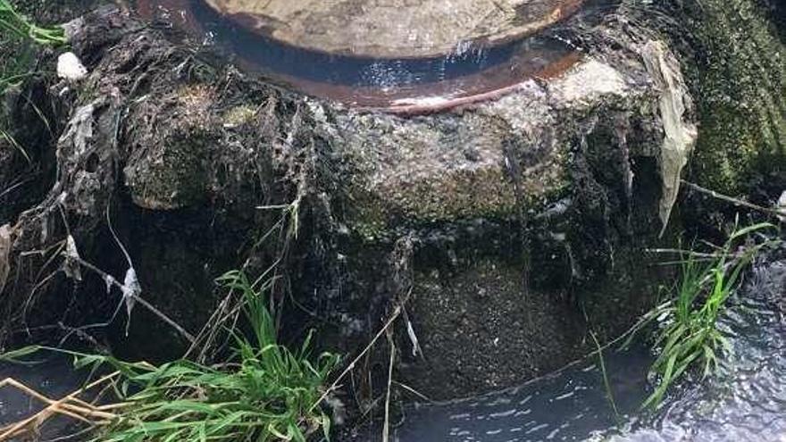
<instances>
[{"instance_id":1,"label":"mossy concrete manhole shaft draped with dark hanging debris","mask_svg":"<svg viewBox=\"0 0 786 442\"><path fill-rule=\"evenodd\" d=\"M659 180L661 96L673 91L656 87L632 45L428 115L354 110L216 69L116 11L86 16L73 46L90 73L57 143L58 181L21 215L14 253L63 235L63 210L82 258L119 279L124 260L95 242L114 200L146 299L192 334L215 302L211 279L278 216L255 207L292 201L293 296L339 324L322 329L322 345L363 346L411 288L426 359L406 359L403 380L435 397L572 360L584 333L576 302L609 333L647 305L639 291L593 293L609 279L630 288L616 279L641 263L631 244L660 228L660 192L640 183ZM264 247L275 249L256 250L261 263ZM105 293L92 284L85 293ZM115 325L119 354L177 348L166 324L134 314L130 338Z\"/></svg>"}]
</instances>

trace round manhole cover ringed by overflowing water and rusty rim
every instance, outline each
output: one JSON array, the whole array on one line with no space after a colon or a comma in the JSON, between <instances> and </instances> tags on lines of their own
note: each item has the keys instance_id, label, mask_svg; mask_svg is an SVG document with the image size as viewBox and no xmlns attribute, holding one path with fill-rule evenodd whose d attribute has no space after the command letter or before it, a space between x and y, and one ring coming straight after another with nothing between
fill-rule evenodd
<instances>
[{"instance_id":1,"label":"round manhole cover ringed by overflowing water and rusty rim","mask_svg":"<svg viewBox=\"0 0 786 442\"><path fill-rule=\"evenodd\" d=\"M354 106L407 112L417 106L433 109L480 101L509 92L527 79L559 75L577 63L581 54L556 28L568 19L596 20L598 11L607 11L599 5L614 3L494 0L491 3L504 12L500 13L502 24L492 27L488 19L471 20L477 0L330 0L336 4L333 10L316 8L311 14L307 4L304 11L297 11L298 1L305 3L293 0L295 6L288 6L270 1L260 6L234 0L136 0L136 4L148 21L183 30L234 63L289 88ZM251 13L220 13L215 4L241 11L261 8L271 16L259 19ZM412 19L413 23L390 23L404 20L398 17L402 13L391 13L397 11L397 4L404 10L424 12L415 14L419 20ZM293 8L295 12L286 11ZM448 20L462 12L464 16ZM355 21L370 21L366 26L379 31L358 28L354 21L347 21L347 14ZM432 16L439 20L429 21ZM280 23L280 19L292 22ZM429 28L439 21L450 22L453 28ZM321 41L313 32L332 40ZM365 41L372 36L377 39Z\"/></svg>"}]
</instances>

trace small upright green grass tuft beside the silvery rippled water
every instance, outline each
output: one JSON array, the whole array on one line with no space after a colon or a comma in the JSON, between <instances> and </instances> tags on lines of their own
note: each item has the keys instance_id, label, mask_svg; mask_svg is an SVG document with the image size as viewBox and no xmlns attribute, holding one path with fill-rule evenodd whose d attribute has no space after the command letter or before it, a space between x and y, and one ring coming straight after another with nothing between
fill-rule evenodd
<instances>
[{"instance_id":1,"label":"small upright green grass tuft beside the silvery rippled water","mask_svg":"<svg viewBox=\"0 0 786 442\"><path fill-rule=\"evenodd\" d=\"M702 379L714 373L731 345L718 329L718 318L740 282L741 273L768 242L740 246L748 235L774 229L769 223L737 229L713 254L682 252L681 280L671 300L647 314L644 323L656 320L657 352L650 373L659 379L655 391L642 408L654 408L668 389L691 368L700 369ZM739 248L738 248L739 246Z\"/></svg>"}]
</instances>

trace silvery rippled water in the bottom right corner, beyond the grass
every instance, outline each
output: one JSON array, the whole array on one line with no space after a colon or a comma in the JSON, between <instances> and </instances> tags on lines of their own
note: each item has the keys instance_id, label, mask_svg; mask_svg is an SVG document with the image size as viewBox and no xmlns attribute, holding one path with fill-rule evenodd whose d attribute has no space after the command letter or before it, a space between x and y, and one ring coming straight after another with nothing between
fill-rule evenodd
<instances>
[{"instance_id":1,"label":"silvery rippled water in the bottom right corner, beyond the grass","mask_svg":"<svg viewBox=\"0 0 786 442\"><path fill-rule=\"evenodd\" d=\"M617 441L786 441L786 259L757 266L723 321L734 352Z\"/></svg>"}]
</instances>

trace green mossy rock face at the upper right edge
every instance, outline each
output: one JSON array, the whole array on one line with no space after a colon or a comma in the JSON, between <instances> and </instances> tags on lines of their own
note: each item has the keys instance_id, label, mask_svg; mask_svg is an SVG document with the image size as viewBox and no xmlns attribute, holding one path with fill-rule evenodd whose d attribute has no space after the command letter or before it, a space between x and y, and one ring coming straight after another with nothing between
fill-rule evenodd
<instances>
[{"instance_id":1,"label":"green mossy rock face at the upper right edge","mask_svg":"<svg viewBox=\"0 0 786 442\"><path fill-rule=\"evenodd\" d=\"M699 46L691 179L744 193L757 175L786 170L786 48L750 0L705 0L685 22Z\"/></svg>"}]
</instances>

